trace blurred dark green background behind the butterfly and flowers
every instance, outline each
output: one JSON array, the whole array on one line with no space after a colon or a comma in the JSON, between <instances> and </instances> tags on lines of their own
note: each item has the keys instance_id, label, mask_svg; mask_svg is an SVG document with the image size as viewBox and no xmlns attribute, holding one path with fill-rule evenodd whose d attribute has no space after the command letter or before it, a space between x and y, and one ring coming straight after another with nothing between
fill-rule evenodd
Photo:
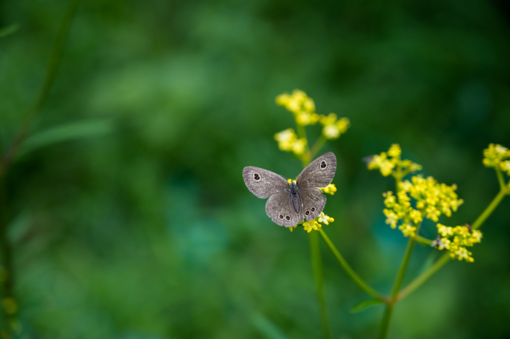
<instances>
[{"instance_id":1,"label":"blurred dark green background behind the butterfly and flowers","mask_svg":"<svg viewBox=\"0 0 510 339\"><path fill-rule=\"evenodd\" d=\"M0 38L3 151L66 4L0 2L0 28L19 24ZM498 191L482 150L510 147L509 25L504 1L82 1L7 178L24 337L320 337L307 233L273 224L241 176L301 170L273 140L294 127L274 97L294 88L351 120L323 148L339 161L324 229L389 293L406 240L382 214L392 180L362 158L399 143L458 185L466 202L442 223L476 219ZM482 227L473 264L447 264L397 305L389 337L510 336L509 209ZM440 255L417 246L404 284ZM322 256L335 338L375 337L383 307L350 314L367 296Z\"/></svg>"}]
</instances>

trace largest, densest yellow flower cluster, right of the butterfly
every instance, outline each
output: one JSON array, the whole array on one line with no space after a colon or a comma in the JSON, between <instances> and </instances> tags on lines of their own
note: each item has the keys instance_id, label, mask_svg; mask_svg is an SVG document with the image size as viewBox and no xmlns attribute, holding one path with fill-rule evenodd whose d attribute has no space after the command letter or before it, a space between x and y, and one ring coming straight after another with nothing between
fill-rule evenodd
<instances>
[{"instance_id":1,"label":"largest, densest yellow flower cluster, right of the butterfly","mask_svg":"<svg viewBox=\"0 0 510 339\"><path fill-rule=\"evenodd\" d=\"M441 214L450 217L452 211L457 211L464 200L458 199L456 189L455 185L438 184L431 176L423 178L415 175L411 181L399 182L396 196L393 192L382 194L386 198L384 203L387 208L382 211L386 216L386 223L391 228L396 228L401 221L398 229L404 237L414 237L417 229L415 225L424 217L437 222ZM416 208L412 206L411 198L416 201Z\"/></svg>"}]
</instances>

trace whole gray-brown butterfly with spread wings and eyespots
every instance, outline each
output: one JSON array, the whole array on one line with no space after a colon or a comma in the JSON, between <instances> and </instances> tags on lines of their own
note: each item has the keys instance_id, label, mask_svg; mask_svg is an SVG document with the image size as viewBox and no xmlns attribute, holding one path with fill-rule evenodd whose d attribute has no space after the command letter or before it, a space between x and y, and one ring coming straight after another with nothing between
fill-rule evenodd
<instances>
[{"instance_id":1,"label":"whole gray-brown butterfly with spread wings and eyespots","mask_svg":"<svg viewBox=\"0 0 510 339\"><path fill-rule=\"evenodd\" d=\"M266 199L266 213L280 226L292 227L313 220L323 210L326 197L318 187L329 185L337 170L333 152L312 161L291 184L281 175L259 167L243 169L244 183L251 193Z\"/></svg>"}]
</instances>

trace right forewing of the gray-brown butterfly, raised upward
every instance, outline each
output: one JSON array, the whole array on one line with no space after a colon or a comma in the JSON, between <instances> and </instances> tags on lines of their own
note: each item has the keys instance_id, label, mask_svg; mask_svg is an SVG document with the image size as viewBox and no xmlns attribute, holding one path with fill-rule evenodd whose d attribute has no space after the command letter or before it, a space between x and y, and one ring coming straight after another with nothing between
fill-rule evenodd
<instances>
[{"instance_id":1,"label":"right forewing of the gray-brown butterfly, raised upward","mask_svg":"<svg viewBox=\"0 0 510 339\"><path fill-rule=\"evenodd\" d=\"M337 157L333 152L322 154L312 161L296 179L296 185L303 187L326 187L337 170Z\"/></svg>"}]
</instances>

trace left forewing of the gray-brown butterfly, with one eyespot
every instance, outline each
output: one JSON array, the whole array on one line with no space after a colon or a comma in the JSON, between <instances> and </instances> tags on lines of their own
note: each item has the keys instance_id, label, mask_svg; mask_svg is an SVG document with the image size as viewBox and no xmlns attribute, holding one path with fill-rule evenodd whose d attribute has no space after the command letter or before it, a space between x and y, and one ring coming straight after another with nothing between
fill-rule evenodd
<instances>
[{"instance_id":1,"label":"left forewing of the gray-brown butterfly, with one eyespot","mask_svg":"<svg viewBox=\"0 0 510 339\"><path fill-rule=\"evenodd\" d=\"M259 167L246 166L243 169L244 184L258 198L268 198L285 191L289 183L281 175Z\"/></svg>"}]
</instances>

